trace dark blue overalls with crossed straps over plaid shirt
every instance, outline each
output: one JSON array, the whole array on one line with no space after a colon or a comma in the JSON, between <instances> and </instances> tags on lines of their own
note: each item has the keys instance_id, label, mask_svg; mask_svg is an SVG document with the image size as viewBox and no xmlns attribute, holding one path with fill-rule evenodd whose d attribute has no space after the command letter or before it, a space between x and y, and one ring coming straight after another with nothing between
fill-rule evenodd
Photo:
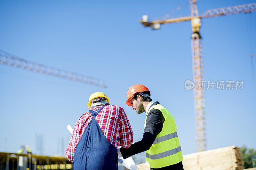
<instances>
[{"instance_id":1,"label":"dark blue overalls with crossed straps over plaid shirt","mask_svg":"<svg viewBox=\"0 0 256 170\"><path fill-rule=\"evenodd\" d=\"M104 106L103 106L104 107ZM86 127L76 146L73 170L117 170L117 149L110 144L95 117L103 109L92 113L92 121Z\"/></svg>"}]
</instances>

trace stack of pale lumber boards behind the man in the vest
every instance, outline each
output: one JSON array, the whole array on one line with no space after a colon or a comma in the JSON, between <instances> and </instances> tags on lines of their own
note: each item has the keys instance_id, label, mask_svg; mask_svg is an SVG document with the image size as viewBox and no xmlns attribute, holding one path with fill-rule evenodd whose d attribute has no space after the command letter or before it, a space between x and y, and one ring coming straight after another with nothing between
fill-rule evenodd
<instances>
[{"instance_id":1,"label":"stack of pale lumber boards behind the man in the vest","mask_svg":"<svg viewBox=\"0 0 256 170\"><path fill-rule=\"evenodd\" d=\"M204 152L183 155L184 170L243 170L240 148L228 146ZM139 170L149 170L146 163L138 165Z\"/></svg>"}]
</instances>

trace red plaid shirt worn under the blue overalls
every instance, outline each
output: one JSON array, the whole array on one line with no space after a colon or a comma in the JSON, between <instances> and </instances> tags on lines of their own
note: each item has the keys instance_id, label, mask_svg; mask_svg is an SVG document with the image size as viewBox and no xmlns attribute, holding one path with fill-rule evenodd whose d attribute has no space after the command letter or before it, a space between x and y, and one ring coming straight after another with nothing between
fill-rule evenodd
<instances>
[{"instance_id":1,"label":"red plaid shirt worn under the blue overalls","mask_svg":"<svg viewBox=\"0 0 256 170\"><path fill-rule=\"evenodd\" d=\"M94 107L92 110L97 112L101 107L102 106ZM132 144L132 128L122 107L107 105L95 118L108 141L116 148L118 148L118 146L128 148ZM73 162L76 146L91 121L92 114L87 111L76 122L73 135L65 153L69 161Z\"/></svg>"}]
</instances>

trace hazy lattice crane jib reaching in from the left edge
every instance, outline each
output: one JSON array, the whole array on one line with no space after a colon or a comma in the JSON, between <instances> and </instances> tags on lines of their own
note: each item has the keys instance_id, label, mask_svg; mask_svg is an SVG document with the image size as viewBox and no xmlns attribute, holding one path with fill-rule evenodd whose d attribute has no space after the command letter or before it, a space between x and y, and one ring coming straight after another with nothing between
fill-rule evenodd
<instances>
[{"instance_id":1,"label":"hazy lattice crane jib reaching in from the left edge","mask_svg":"<svg viewBox=\"0 0 256 170\"><path fill-rule=\"evenodd\" d=\"M89 76L85 76L82 74L78 74L78 73L63 70L63 69L46 66L39 63L34 63L31 61L16 57L3 50L0 50L0 64L12 66L12 67L23 69L23 70L33 71L33 72L37 72L40 74L45 74L45 75L49 75L57 78L72 80L72 81L76 81L84 84L100 86L103 88L107 87L107 85L104 83L103 80L92 78Z\"/></svg>"}]
</instances>

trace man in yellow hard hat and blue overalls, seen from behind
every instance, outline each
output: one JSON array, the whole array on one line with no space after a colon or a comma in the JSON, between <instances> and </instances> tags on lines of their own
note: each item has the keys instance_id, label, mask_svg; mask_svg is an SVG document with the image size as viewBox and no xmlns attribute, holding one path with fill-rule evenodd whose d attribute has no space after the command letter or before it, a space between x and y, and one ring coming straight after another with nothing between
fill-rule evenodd
<instances>
[{"instance_id":1,"label":"man in yellow hard hat and blue overalls, seen from behind","mask_svg":"<svg viewBox=\"0 0 256 170\"><path fill-rule=\"evenodd\" d=\"M117 148L132 144L133 132L124 109L110 105L108 97L95 92L73 130L66 156L74 170L118 169Z\"/></svg>"}]
</instances>

